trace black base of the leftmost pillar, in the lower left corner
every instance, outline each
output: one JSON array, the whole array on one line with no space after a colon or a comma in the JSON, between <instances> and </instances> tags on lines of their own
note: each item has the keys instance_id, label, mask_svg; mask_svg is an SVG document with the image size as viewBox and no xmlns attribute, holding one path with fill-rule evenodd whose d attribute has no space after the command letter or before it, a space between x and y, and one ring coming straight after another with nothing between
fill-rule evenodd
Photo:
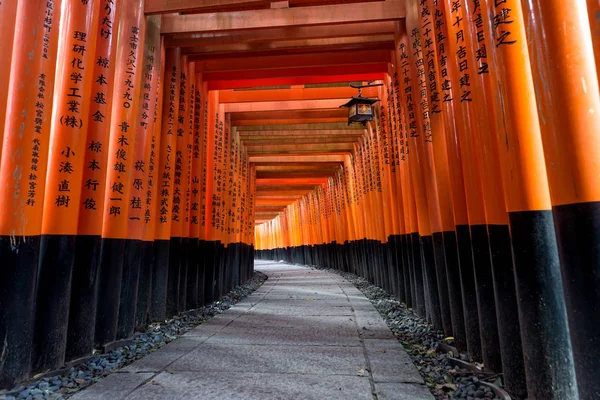
<instances>
[{"instance_id":1,"label":"black base of the leftmost pillar, in the lower left corner","mask_svg":"<svg viewBox=\"0 0 600 400\"><path fill-rule=\"evenodd\" d=\"M0 236L0 389L31 372L39 246L39 236Z\"/></svg>"}]
</instances>

